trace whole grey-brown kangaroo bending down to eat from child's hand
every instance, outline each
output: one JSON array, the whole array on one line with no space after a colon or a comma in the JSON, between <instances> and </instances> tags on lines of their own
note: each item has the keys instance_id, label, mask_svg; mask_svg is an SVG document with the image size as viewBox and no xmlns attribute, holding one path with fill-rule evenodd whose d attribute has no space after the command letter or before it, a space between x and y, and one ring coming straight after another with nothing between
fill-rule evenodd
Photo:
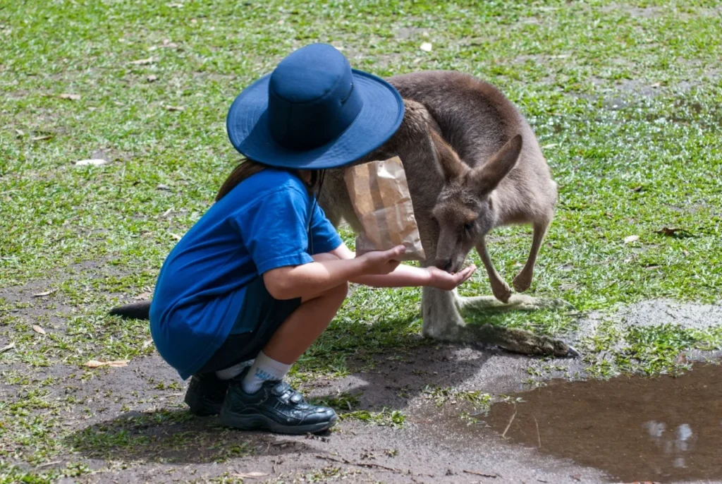
<instances>
[{"instance_id":1,"label":"whole grey-brown kangaroo bending down to eat from child's hand","mask_svg":"<svg viewBox=\"0 0 722 484\"><path fill-rule=\"evenodd\" d=\"M476 247L492 292L502 301L424 288L422 333L437 340L499 345L528 355L577 355L560 340L522 329L467 325L461 316L466 309L528 310L548 304L512 295L494 269L484 240L500 225L534 227L529 259L513 280L516 290L528 289L557 199L556 184L531 126L499 90L466 74L415 72L388 81L404 98L404 121L388 142L354 164L398 155L427 254L423 264L456 272ZM335 226L343 219L356 232L361 230L344 168L327 171L318 202ZM147 318L148 306L121 306L111 314Z\"/></svg>"}]
</instances>

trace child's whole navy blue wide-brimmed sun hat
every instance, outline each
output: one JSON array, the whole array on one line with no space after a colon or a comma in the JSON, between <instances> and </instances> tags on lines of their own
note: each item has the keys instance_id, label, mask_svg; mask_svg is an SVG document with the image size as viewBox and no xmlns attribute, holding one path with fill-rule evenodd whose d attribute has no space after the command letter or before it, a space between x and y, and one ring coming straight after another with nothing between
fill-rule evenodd
<instances>
[{"instance_id":1,"label":"child's whole navy blue wide-brimmed sun hat","mask_svg":"<svg viewBox=\"0 0 722 484\"><path fill-rule=\"evenodd\" d=\"M228 111L228 137L251 160L282 168L347 165L386 142L404 118L388 82L351 69L333 46L292 52Z\"/></svg>"}]
</instances>

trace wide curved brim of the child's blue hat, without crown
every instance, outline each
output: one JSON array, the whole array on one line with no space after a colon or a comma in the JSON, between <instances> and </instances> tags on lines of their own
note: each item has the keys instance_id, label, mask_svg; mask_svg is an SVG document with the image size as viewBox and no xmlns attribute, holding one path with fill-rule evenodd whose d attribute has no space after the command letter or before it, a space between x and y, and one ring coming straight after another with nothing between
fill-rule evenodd
<instances>
[{"instance_id":1,"label":"wide curved brim of the child's blue hat, without crown","mask_svg":"<svg viewBox=\"0 0 722 484\"><path fill-rule=\"evenodd\" d=\"M236 150L245 157L282 168L322 170L348 165L385 143L401 126L404 100L388 82L352 69L354 87L363 106L353 123L333 141L308 151L287 150L271 137L268 121L267 74L235 98L226 129Z\"/></svg>"}]
</instances>

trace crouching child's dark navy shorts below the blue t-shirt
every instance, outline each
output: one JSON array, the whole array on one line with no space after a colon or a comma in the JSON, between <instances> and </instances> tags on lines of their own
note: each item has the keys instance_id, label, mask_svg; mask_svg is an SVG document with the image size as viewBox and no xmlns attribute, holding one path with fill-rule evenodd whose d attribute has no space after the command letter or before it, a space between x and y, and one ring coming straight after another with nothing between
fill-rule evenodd
<instances>
[{"instance_id":1,"label":"crouching child's dark navy shorts below the blue t-shirt","mask_svg":"<svg viewBox=\"0 0 722 484\"><path fill-rule=\"evenodd\" d=\"M211 373L253 360L300 305L301 298L274 299L266 290L263 277L256 277L246 286L243 306L230 334L198 373Z\"/></svg>"}]
</instances>

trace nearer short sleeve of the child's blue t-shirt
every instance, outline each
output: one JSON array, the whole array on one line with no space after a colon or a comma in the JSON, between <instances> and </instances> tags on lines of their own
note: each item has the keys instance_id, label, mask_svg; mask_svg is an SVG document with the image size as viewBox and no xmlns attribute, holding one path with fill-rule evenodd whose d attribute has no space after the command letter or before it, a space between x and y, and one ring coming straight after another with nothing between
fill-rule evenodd
<instances>
[{"instance_id":1,"label":"nearer short sleeve of the child's blue t-shirt","mask_svg":"<svg viewBox=\"0 0 722 484\"><path fill-rule=\"evenodd\" d=\"M258 274L313 262L308 254L308 196L288 188L271 192L235 216Z\"/></svg>"}]
</instances>

